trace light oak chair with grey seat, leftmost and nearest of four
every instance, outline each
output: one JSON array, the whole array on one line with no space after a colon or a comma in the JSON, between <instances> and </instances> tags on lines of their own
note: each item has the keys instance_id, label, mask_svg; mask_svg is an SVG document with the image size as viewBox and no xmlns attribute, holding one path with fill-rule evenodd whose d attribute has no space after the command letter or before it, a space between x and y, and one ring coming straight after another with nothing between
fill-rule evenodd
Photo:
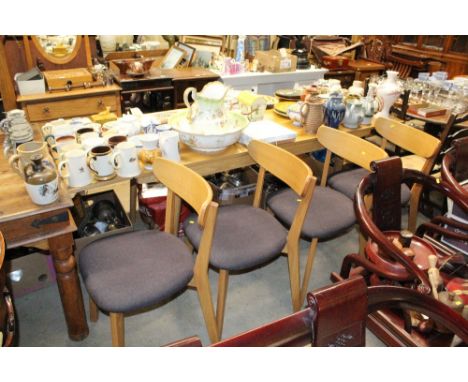
<instances>
[{"instance_id":1,"label":"light oak chair with grey seat, leftmost and nearest of four","mask_svg":"<svg viewBox=\"0 0 468 382\"><path fill-rule=\"evenodd\" d=\"M210 340L218 341L208 280L218 204L213 202L207 181L181 164L157 158L153 172L168 188L164 232L144 230L104 238L80 253L90 319L97 321L98 307L109 312L112 345L124 346L125 314L163 303L190 286L198 292ZM181 199L197 212L197 222L203 227L195 260L191 249L177 237Z\"/></svg>"}]
</instances>

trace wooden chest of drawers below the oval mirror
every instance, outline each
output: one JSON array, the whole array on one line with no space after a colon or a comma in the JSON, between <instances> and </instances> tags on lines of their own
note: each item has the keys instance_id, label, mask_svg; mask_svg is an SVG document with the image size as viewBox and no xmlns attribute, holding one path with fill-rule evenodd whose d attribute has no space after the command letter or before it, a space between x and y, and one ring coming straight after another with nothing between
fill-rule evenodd
<instances>
[{"instance_id":1,"label":"wooden chest of drawers below the oval mirror","mask_svg":"<svg viewBox=\"0 0 468 382\"><path fill-rule=\"evenodd\" d=\"M106 107L121 115L120 87L117 85L19 96L17 102L26 111L30 122L89 116L105 110Z\"/></svg>"}]
</instances>

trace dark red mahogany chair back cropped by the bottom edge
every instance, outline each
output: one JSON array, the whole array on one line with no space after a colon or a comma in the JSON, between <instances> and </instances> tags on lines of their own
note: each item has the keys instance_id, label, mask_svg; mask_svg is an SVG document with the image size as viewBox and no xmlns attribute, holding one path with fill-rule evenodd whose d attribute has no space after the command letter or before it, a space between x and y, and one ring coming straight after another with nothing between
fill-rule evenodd
<instances>
[{"instance_id":1,"label":"dark red mahogany chair back cropped by the bottom edge","mask_svg":"<svg viewBox=\"0 0 468 382\"><path fill-rule=\"evenodd\" d=\"M425 314L468 344L468 321L446 305L402 287L366 287L358 276L307 295L308 306L279 320L214 343L212 347L365 346L368 314L383 308ZM199 347L198 337L167 346Z\"/></svg>"}]
</instances>

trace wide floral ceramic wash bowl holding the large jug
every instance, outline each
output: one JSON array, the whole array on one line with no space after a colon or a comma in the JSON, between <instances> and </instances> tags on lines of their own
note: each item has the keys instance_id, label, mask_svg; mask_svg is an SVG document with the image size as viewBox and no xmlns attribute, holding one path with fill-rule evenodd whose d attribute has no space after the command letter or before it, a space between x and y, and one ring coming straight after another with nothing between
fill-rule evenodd
<instances>
[{"instance_id":1,"label":"wide floral ceramic wash bowl holding the large jug","mask_svg":"<svg viewBox=\"0 0 468 382\"><path fill-rule=\"evenodd\" d=\"M214 153L236 143L249 120L239 113L228 111L224 127L204 129L203 126L193 126L187 118L187 111L183 111L170 117L168 124L179 133L181 142L192 150Z\"/></svg>"}]
</instances>

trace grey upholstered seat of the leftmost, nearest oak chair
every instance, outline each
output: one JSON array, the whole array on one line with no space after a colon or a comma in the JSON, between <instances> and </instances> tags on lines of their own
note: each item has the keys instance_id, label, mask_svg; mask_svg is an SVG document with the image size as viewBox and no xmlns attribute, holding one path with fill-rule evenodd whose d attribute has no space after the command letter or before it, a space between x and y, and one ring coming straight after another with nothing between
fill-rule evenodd
<instances>
[{"instance_id":1,"label":"grey upholstered seat of the leftmost, nearest oak chair","mask_svg":"<svg viewBox=\"0 0 468 382\"><path fill-rule=\"evenodd\" d=\"M79 257L86 289L104 310L129 313L164 301L193 276L190 249L165 232L138 231L95 241Z\"/></svg>"}]
</instances>

